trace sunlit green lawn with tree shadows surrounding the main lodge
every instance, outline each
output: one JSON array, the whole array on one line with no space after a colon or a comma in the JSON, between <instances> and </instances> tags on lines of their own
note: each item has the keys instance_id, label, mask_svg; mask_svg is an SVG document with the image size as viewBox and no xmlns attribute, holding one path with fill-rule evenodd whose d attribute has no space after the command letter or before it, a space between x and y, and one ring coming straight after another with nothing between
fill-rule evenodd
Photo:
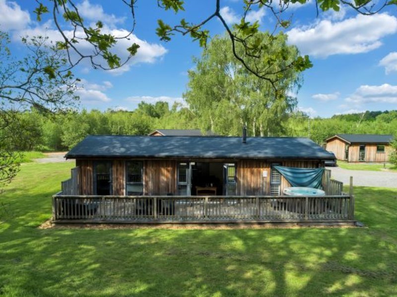
<instances>
[{"instance_id":1,"label":"sunlit green lawn with tree shadows surrounding the main lodge","mask_svg":"<svg viewBox=\"0 0 397 297\"><path fill-rule=\"evenodd\" d=\"M397 294L397 189L355 188L368 228L38 229L71 166L23 164L0 197L0 296Z\"/></svg>"}]
</instances>

